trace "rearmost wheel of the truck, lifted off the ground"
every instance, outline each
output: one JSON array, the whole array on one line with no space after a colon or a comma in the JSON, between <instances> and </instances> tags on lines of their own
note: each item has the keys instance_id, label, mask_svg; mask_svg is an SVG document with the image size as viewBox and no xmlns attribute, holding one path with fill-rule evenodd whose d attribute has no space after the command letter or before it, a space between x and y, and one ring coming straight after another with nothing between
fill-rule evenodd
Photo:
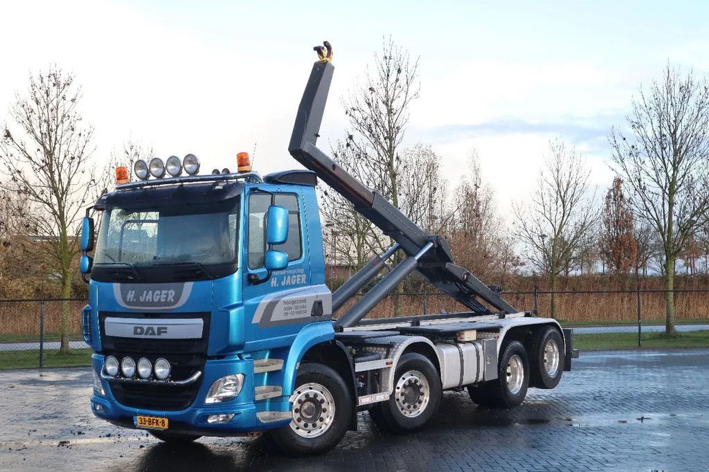
<instances>
[{"instance_id":1,"label":"rearmost wheel of the truck, lifted off the ground","mask_svg":"<svg viewBox=\"0 0 709 472\"><path fill-rule=\"evenodd\" d=\"M538 333L530 364L532 387L554 388L559 385L564 371L564 339L559 330L549 326Z\"/></svg>"}]
</instances>

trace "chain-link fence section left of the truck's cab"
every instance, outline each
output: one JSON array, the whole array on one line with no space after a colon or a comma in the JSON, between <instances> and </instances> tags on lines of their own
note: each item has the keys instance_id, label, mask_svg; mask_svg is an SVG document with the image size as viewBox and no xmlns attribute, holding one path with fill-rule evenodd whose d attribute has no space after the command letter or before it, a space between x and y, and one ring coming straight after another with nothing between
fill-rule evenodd
<instances>
[{"instance_id":1,"label":"chain-link fence section left of the truck's cab","mask_svg":"<svg viewBox=\"0 0 709 472\"><path fill-rule=\"evenodd\" d=\"M88 366L91 349L81 326L84 305L86 300L76 298L0 300L0 370ZM63 309L69 313L69 330L62 339Z\"/></svg>"}]
</instances>

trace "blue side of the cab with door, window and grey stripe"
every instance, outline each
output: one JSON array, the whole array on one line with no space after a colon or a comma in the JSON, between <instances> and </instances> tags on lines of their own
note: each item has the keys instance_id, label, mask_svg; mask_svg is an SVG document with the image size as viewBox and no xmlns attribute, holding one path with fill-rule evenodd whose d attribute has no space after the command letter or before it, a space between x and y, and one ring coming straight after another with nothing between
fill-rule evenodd
<instances>
[{"instance_id":1,"label":"blue side of the cab with door, window and grey stripe","mask_svg":"<svg viewBox=\"0 0 709 472\"><path fill-rule=\"evenodd\" d=\"M246 201L242 280L246 351L289 345L304 324L325 318L323 297L326 294L320 293L324 286L311 286L302 193L297 188L269 186L268 190L252 189ZM269 276L264 267L264 255L268 249L267 213L272 201L289 213L288 238L282 245L273 247L288 254L288 266ZM267 277L262 283L255 282Z\"/></svg>"}]
</instances>

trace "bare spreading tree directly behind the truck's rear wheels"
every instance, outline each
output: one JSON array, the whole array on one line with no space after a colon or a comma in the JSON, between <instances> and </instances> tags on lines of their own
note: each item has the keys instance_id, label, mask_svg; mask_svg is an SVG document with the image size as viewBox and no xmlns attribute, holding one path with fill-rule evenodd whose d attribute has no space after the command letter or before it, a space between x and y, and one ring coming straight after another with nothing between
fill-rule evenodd
<instances>
[{"instance_id":1,"label":"bare spreading tree directly behind the truck's rear wheels","mask_svg":"<svg viewBox=\"0 0 709 472\"><path fill-rule=\"evenodd\" d=\"M589 197L589 176L581 154L562 140L553 140L530 204L513 206L515 234L530 264L549 277L552 292L557 276L585 246L598 214ZM556 315L553 293L551 315Z\"/></svg>"}]
</instances>

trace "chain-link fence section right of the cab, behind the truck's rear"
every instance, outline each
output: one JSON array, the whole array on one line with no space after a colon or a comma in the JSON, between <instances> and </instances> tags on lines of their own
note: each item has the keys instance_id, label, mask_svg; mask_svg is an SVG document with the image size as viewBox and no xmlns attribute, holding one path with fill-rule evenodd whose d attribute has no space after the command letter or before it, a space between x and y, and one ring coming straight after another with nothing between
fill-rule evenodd
<instances>
[{"instance_id":1,"label":"chain-link fence section right of the cab, behind the truck's rear","mask_svg":"<svg viewBox=\"0 0 709 472\"><path fill-rule=\"evenodd\" d=\"M664 290L510 291L511 305L574 328L582 351L637 347L709 347L709 289L674 291L676 335L666 335ZM348 305L352 305L351 300ZM552 313L552 304L554 310ZM348 305L340 313L345 313ZM455 313L463 305L442 293L391 293L367 318Z\"/></svg>"}]
</instances>

